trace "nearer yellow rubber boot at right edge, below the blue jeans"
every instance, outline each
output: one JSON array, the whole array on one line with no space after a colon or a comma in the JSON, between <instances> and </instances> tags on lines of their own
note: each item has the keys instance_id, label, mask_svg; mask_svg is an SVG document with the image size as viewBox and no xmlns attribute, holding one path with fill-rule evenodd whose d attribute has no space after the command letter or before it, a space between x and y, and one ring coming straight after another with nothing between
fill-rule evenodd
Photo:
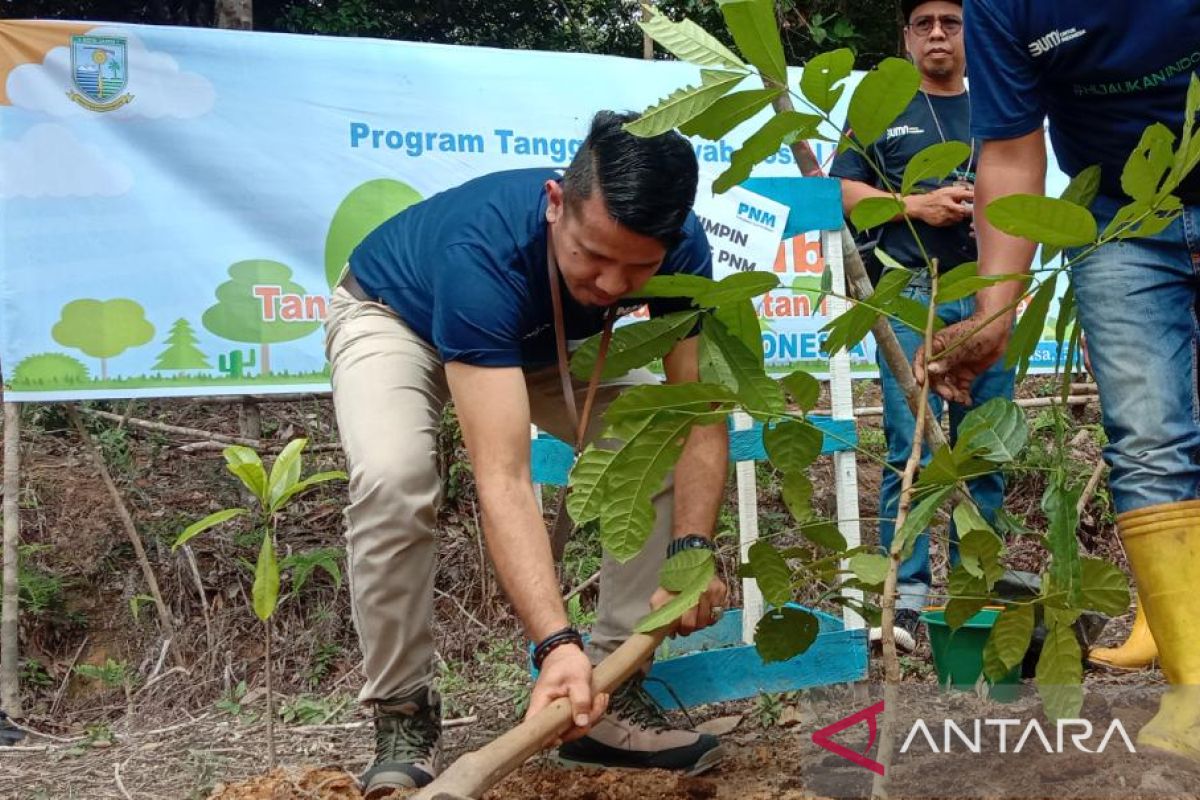
<instances>
[{"instance_id":1,"label":"nearer yellow rubber boot at right edge, below the blue jeans","mask_svg":"<svg viewBox=\"0 0 1200 800\"><path fill-rule=\"evenodd\" d=\"M1166 503L1117 517L1138 578L1159 662L1171 686L1138 746L1200 763L1200 500Z\"/></svg>"}]
</instances>

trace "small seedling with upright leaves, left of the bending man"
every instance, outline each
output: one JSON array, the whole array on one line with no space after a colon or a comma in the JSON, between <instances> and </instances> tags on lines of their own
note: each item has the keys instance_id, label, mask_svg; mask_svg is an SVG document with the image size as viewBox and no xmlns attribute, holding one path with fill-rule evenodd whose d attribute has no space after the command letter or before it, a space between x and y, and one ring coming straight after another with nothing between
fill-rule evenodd
<instances>
[{"instance_id":1,"label":"small seedling with upright leaves, left of the bending man","mask_svg":"<svg viewBox=\"0 0 1200 800\"><path fill-rule=\"evenodd\" d=\"M236 517L251 516L254 521L254 531L262 539L258 548L258 560L254 564L254 583L251 589L251 606L254 615L263 622L263 639L265 654L263 656L266 673L266 752L270 768L275 768L275 698L271 685L271 616L280 600L280 561L276 558L275 531L278 515L284 512L290 501L319 483L328 481L347 480L346 473L331 470L317 473L308 477L300 477L302 473L301 452L307 439L293 439L283 447L282 452L271 464L268 474L263 467L263 459L250 447L233 445L224 449L226 467L238 476L251 497L256 500L256 507L250 509L222 509L210 513L204 519L192 523L184 530L172 549L185 546L188 541L200 535L209 528L214 528ZM298 563L299 564L299 563ZM307 578L312 569L320 565L326 571L330 567L323 564L322 559L302 561L307 566L304 578ZM330 571L335 581L340 581L340 572L336 571L336 563ZM295 585L296 576L293 575L293 590L299 590ZM302 584L302 581L300 582Z\"/></svg>"}]
</instances>

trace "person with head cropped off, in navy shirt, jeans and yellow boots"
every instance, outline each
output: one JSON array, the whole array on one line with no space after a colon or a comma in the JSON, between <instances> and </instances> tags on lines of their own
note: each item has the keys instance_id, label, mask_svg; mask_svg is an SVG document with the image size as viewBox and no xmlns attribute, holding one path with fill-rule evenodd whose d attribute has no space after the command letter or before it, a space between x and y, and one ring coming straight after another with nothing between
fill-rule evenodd
<instances>
[{"instance_id":1,"label":"person with head cropped off, in navy shirt, jeans and yellow boots","mask_svg":"<svg viewBox=\"0 0 1200 800\"><path fill-rule=\"evenodd\" d=\"M1043 124L1058 164L1100 168L1092 212L1105 227L1129 203L1122 172L1151 126L1178 140L1189 91L1200 92L1200 2L1166 0L966 0L972 131L983 139L976 203L1044 192ZM1190 89L1189 89L1190 86ZM1174 145L1172 145L1174 146ZM1093 661L1139 667L1156 656L1171 682L1138 736L1200 762L1200 636L1189 602L1200 585L1200 172L1176 188L1176 213L1158 233L1082 254L1072 264L1080 324L1100 391L1105 458L1139 615L1129 640ZM1027 272L1034 245L976 219L979 273ZM983 289L972 319L935 337L929 365L943 397L1003 355L1018 282ZM920 356L914 365L924 374ZM1147 636L1147 632L1150 636Z\"/></svg>"}]
</instances>

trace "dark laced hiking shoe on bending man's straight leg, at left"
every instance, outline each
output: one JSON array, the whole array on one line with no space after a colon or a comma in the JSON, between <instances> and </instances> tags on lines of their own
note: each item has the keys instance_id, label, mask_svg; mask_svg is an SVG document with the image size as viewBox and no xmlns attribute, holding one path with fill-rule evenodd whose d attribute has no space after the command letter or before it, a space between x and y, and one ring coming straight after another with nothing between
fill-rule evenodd
<instances>
[{"instance_id":1,"label":"dark laced hiking shoe on bending man's straight leg, at left","mask_svg":"<svg viewBox=\"0 0 1200 800\"><path fill-rule=\"evenodd\" d=\"M428 784L438 774L442 697L433 687L377 703L376 756L362 774L365 800Z\"/></svg>"}]
</instances>

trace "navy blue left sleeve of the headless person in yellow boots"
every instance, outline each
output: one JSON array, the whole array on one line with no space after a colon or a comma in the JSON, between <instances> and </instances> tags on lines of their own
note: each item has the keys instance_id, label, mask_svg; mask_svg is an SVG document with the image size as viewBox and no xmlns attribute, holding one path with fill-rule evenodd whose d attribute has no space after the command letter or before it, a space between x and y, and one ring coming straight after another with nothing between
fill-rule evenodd
<instances>
[{"instance_id":1,"label":"navy blue left sleeve of the headless person in yellow boots","mask_svg":"<svg viewBox=\"0 0 1200 800\"><path fill-rule=\"evenodd\" d=\"M1042 127L1045 103L1021 25L990 0L966 0L962 19L971 89L971 134L1014 139Z\"/></svg>"}]
</instances>

